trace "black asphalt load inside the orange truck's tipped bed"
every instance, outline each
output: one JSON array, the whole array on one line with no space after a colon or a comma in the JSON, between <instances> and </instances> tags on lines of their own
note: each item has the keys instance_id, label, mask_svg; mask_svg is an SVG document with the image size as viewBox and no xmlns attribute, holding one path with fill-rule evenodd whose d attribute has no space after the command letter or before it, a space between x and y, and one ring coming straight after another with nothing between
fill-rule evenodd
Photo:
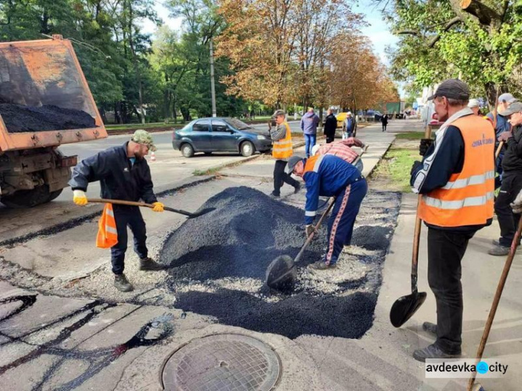
<instances>
[{"instance_id":1,"label":"black asphalt load inside the orange truck's tipped bed","mask_svg":"<svg viewBox=\"0 0 522 391\"><path fill-rule=\"evenodd\" d=\"M0 115L9 133L96 127L95 119L85 111L50 104L40 107L0 104Z\"/></svg>"}]
</instances>

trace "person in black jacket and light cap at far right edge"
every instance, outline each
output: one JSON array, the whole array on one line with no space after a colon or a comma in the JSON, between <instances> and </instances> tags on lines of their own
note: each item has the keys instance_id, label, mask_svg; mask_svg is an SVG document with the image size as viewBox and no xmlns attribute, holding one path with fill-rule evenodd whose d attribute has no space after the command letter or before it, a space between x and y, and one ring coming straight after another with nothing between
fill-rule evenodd
<instances>
[{"instance_id":1,"label":"person in black jacket and light cap at far right edge","mask_svg":"<svg viewBox=\"0 0 522 391\"><path fill-rule=\"evenodd\" d=\"M522 102L514 102L500 115L509 120L512 129L498 136L504 141L506 150L502 161L502 186L495 201L495 213L500 225L500 237L488 251L489 255L507 255L512 244L519 214L512 212L510 203L514 202L522 190Z\"/></svg>"}]
</instances>

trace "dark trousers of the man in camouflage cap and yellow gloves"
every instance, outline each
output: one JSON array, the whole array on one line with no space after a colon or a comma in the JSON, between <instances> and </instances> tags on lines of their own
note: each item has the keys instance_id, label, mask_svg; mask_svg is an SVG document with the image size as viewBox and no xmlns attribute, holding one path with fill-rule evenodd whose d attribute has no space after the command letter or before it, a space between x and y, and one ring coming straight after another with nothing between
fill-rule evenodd
<instances>
[{"instance_id":1,"label":"dark trousers of the man in camouflage cap and yellow gloves","mask_svg":"<svg viewBox=\"0 0 522 391\"><path fill-rule=\"evenodd\" d=\"M125 251L127 251L127 226L134 235L134 252L140 259L146 258L148 255L147 246L145 246L147 230L139 207L113 205L113 209L118 231L118 244L111 247L112 271L114 274L122 274L125 269Z\"/></svg>"}]
</instances>

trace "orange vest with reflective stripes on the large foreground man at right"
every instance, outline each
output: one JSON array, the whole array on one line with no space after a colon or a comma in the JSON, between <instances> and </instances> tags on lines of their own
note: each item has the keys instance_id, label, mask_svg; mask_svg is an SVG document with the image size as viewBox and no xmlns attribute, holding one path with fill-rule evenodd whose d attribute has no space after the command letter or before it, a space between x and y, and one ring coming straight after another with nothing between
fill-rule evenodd
<instances>
[{"instance_id":1,"label":"orange vest with reflective stripes on the large foreground man at right","mask_svg":"<svg viewBox=\"0 0 522 391\"><path fill-rule=\"evenodd\" d=\"M477 115L466 115L451 125L464 138L464 166L443 187L422 196L419 218L439 227L481 225L493 218L495 131Z\"/></svg>"}]
</instances>

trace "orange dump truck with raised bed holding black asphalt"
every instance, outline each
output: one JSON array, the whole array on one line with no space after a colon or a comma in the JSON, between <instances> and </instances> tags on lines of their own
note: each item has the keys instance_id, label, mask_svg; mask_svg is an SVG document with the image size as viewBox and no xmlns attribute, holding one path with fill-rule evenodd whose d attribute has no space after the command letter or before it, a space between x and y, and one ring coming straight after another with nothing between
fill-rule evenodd
<instances>
[{"instance_id":1,"label":"orange dump truck with raised bed holding black asphalt","mask_svg":"<svg viewBox=\"0 0 522 391\"><path fill-rule=\"evenodd\" d=\"M0 42L0 202L34 207L68 186L58 146L107 133L70 40Z\"/></svg>"}]
</instances>

